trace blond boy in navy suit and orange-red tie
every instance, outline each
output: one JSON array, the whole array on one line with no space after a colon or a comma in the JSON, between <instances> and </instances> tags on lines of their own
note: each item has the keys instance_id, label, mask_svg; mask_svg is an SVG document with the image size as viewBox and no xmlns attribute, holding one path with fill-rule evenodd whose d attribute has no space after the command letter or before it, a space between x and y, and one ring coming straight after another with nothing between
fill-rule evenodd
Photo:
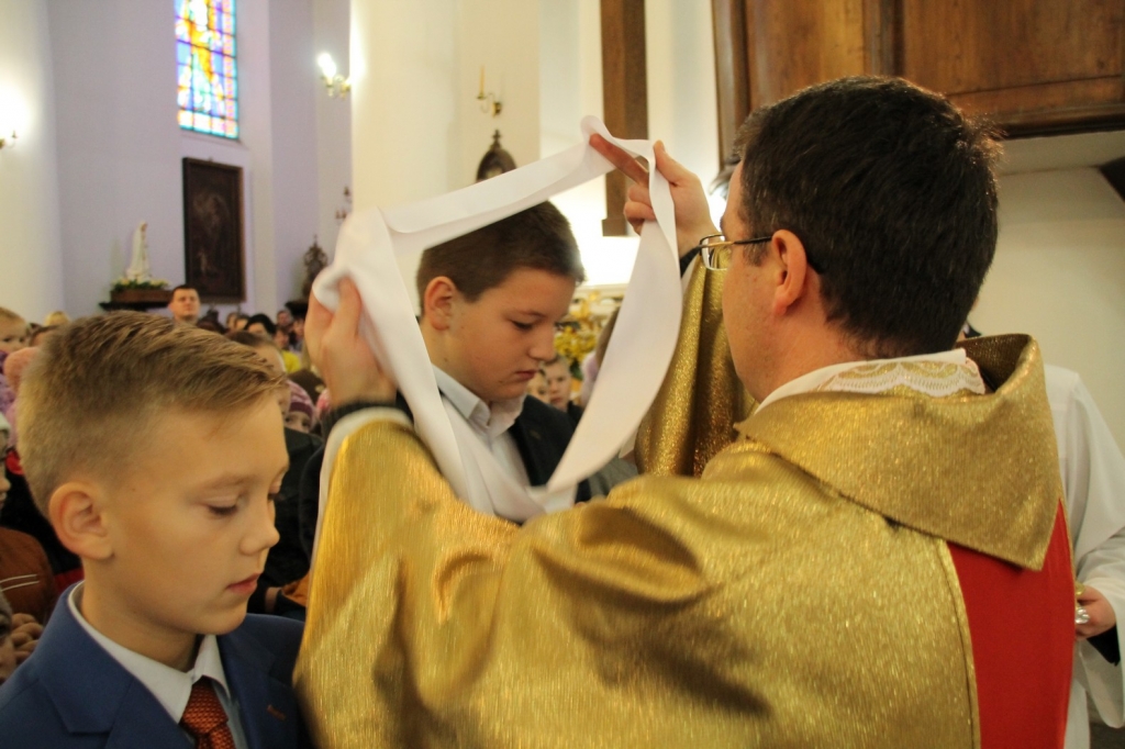
<instances>
[{"instance_id":1,"label":"blond boy in navy suit and orange-red tie","mask_svg":"<svg viewBox=\"0 0 1125 749\"><path fill-rule=\"evenodd\" d=\"M44 345L20 390L24 467L86 581L0 688L6 747L307 745L302 628L246 616L278 539L279 387L249 349L138 313Z\"/></svg>"}]
</instances>

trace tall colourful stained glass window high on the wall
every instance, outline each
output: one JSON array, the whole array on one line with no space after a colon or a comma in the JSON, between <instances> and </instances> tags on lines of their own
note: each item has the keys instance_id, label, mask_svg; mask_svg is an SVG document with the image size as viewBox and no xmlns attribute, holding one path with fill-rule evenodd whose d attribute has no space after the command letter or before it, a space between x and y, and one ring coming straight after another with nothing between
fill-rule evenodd
<instances>
[{"instance_id":1,"label":"tall colourful stained glass window high on the wall","mask_svg":"<svg viewBox=\"0 0 1125 749\"><path fill-rule=\"evenodd\" d=\"M235 0L174 0L180 127L238 137Z\"/></svg>"}]
</instances>

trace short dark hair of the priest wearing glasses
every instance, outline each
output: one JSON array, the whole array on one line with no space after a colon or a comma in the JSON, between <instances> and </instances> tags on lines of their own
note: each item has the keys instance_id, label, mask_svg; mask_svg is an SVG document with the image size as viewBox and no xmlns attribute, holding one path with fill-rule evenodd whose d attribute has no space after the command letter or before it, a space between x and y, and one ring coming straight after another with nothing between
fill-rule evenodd
<instances>
[{"instance_id":1,"label":"short dark hair of the priest wearing glasses","mask_svg":"<svg viewBox=\"0 0 1125 749\"><path fill-rule=\"evenodd\" d=\"M736 151L741 218L800 237L858 351L953 346L996 252L987 123L901 79L845 78L752 112Z\"/></svg>"}]
</instances>

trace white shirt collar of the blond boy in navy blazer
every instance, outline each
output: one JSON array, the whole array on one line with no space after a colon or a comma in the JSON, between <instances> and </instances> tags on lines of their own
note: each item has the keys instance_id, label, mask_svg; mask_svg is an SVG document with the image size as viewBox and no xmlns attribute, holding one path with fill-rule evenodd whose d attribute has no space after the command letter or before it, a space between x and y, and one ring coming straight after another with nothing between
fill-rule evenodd
<instances>
[{"instance_id":1,"label":"white shirt collar of the blond boy in navy blazer","mask_svg":"<svg viewBox=\"0 0 1125 749\"><path fill-rule=\"evenodd\" d=\"M199 643L199 651L196 653L196 662L190 671L174 669L119 646L93 629L93 625L86 621L79 610L82 588L83 584L79 584L66 598L71 615L94 642L101 646L114 660L122 665L122 668L132 674L156 697L156 701L168 711L173 721L179 723L180 719L183 718L188 698L191 696L191 685L204 677L213 679L226 693L227 698L231 697L231 689L226 683L226 671L223 669L223 658L218 651L218 639L214 634L204 635Z\"/></svg>"}]
</instances>

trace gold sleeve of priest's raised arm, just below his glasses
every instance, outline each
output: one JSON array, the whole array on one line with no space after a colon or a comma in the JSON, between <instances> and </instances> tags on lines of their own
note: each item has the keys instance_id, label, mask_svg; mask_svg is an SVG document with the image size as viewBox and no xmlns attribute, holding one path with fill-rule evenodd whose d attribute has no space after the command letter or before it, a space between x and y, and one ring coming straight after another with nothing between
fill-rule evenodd
<instances>
[{"instance_id":1,"label":"gold sleeve of priest's raised arm, just below his glasses","mask_svg":"<svg viewBox=\"0 0 1125 749\"><path fill-rule=\"evenodd\" d=\"M641 473L701 476L708 461L734 441L735 424L754 406L730 359L722 280L721 271L695 263L676 352L637 432L633 455Z\"/></svg>"}]
</instances>

